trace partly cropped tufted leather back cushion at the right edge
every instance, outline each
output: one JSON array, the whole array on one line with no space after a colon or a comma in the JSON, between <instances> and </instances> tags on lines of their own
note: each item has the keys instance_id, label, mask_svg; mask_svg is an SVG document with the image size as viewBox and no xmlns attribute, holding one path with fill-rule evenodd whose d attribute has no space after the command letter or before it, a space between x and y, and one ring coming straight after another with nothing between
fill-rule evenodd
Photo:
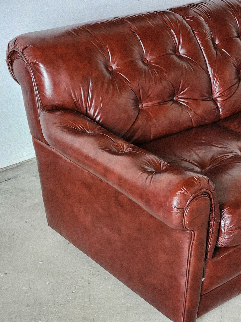
<instances>
[{"instance_id":1,"label":"partly cropped tufted leather back cushion at the right edge","mask_svg":"<svg viewBox=\"0 0 241 322\"><path fill-rule=\"evenodd\" d=\"M205 56L220 118L241 110L241 1L206 0L171 9L190 24Z\"/></svg>"}]
</instances>

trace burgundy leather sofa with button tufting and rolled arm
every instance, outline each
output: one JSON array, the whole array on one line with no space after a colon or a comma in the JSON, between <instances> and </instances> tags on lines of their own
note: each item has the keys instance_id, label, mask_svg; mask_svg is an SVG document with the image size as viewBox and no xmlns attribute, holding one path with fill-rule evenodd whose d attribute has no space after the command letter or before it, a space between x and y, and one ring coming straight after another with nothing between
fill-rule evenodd
<instances>
[{"instance_id":1,"label":"burgundy leather sofa with button tufting and rolled arm","mask_svg":"<svg viewBox=\"0 0 241 322\"><path fill-rule=\"evenodd\" d=\"M241 293L241 1L27 33L49 225L175 322Z\"/></svg>"}]
</instances>

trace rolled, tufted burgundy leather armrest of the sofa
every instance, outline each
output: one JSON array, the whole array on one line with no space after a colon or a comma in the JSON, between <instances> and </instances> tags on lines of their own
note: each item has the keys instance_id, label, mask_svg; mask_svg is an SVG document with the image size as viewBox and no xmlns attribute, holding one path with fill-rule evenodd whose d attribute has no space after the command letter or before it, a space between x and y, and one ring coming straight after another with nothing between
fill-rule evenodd
<instances>
[{"instance_id":1,"label":"rolled, tufted burgundy leather armrest of the sofa","mask_svg":"<svg viewBox=\"0 0 241 322\"><path fill-rule=\"evenodd\" d=\"M40 124L49 146L128 196L176 230L195 230L188 205L209 195L211 211L207 256L216 244L219 211L210 180L165 162L71 110L41 111ZM206 214L205 216L209 216Z\"/></svg>"}]
</instances>

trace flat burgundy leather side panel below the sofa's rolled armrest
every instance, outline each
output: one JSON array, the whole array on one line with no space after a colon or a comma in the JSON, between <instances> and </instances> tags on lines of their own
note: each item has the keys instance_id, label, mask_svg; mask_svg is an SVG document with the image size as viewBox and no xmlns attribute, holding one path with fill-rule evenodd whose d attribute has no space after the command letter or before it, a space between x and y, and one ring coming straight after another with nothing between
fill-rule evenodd
<instances>
[{"instance_id":1,"label":"flat burgundy leather side panel below the sofa's rolled armrest","mask_svg":"<svg viewBox=\"0 0 241 322\"><path fill-rule=\"evenodd\" d=\"M164 315L194 322L206 234L166 226L46 144L33 143L49 225ZM186 216L195 211L207 226L200 212L209 212L210 200L203 198Z\"/></svg>"}]
</instances>

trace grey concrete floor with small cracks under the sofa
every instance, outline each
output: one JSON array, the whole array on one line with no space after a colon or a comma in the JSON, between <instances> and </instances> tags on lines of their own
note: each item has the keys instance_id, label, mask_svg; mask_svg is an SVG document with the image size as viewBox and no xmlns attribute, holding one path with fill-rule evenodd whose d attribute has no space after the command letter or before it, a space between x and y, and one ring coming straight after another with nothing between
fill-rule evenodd
<instances>
[{"instance_id":1,"label":"grey concrete floor with small cracks under the sofa","mask_svg":"<svg viewBox=\"0 0 241 322\"><path fill-rule=\"evenodd\" d=\"M2 322L170 322L48 227L36 160L0 170ZM197 322L240 322L241 296Z\"/></svg>"}]
</instances>

